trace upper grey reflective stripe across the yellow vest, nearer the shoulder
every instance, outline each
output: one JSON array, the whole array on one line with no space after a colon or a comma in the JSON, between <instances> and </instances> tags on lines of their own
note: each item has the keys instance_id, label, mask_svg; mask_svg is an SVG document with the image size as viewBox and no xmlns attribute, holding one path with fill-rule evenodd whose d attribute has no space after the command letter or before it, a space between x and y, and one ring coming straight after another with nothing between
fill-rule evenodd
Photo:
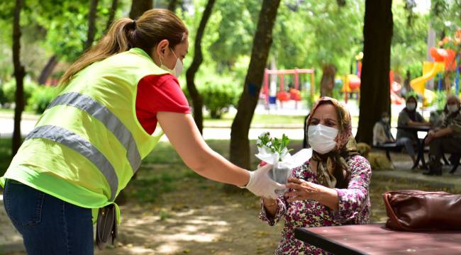
<instances>
[{"instance_id":1,"label":"upper grey reflective stripe across the yellow vest, nearer the shoulder","mask_svg":"<svg viewBox=\"0 0 461 255\"><path fill-rule=\"evenodd\" d=\"M70 92L57 96L54 101L48 105L48 108L52 108L57 105L74 106L76 108L86 111L89 115L98 119L103 123L108 130L111 130L113 135L117 137L118 141L121 142L123 147L126 149L126 157L130 162L133 173L138 171L141 164L141 156L136 146L135 139L131 135L130 130L113 114L106 106L97 102L89 96L79 94L77 92ZM47 109L48 109L47 108Z\"/></svg>"}]
</instances>

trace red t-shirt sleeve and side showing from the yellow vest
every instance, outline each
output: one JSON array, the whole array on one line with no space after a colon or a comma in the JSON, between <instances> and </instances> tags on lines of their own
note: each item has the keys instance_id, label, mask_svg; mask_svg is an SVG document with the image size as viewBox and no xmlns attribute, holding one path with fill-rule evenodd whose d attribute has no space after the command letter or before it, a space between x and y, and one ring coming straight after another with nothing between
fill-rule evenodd
<instances>
[{"instance_id":1,"label":"red t-shirt sleeve and side showing from the yellow vest","mask_svg":"<svg viewBox=\"0 0 461 255\"><path fill-rule=\"evenodd\" d=\"M172 74L148 75L138 82L136 116L149 134L155 131L159 111L190 113L187 98Z\"/></svg>"}]
</instances>

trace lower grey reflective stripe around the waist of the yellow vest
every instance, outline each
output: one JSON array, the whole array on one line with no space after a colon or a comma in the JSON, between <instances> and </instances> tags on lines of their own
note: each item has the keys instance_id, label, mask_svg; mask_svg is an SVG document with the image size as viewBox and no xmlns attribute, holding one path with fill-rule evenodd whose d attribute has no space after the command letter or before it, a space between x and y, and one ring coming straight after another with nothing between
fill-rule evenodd
<instances>
[{"instance_id":1,"label":"lower grey reflective stripe around the waist of the yellow vest","mask_svg":"<svg viewBox=\"0 0 461 255\"><path fill-rule=\"evenodd\" d=\"M74 151L82 154L91 161L101 173L106 177L106 181L111 186L111 201L115 199L118 188L118 177L115 169L109 160L99 152L99 149L91 145L83 137L65 128L60 128L55 125L43 125L32 130L26 137L26 140L33 138L43 138L58 142L62 145L74 149Z\"/></svg>"}]
</instances>

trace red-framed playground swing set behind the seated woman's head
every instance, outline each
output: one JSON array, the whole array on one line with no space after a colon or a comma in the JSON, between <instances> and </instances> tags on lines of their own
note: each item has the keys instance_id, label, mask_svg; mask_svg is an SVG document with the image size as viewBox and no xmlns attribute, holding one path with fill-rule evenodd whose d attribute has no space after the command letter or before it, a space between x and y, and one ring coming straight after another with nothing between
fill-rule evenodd
<instances>
[{"instance_id":1,"label":"red-framed playground swing set behind the seated woman's head","mask_svg":"<svg viewBox=\"0 0 461 255\"><path fill-rule=\"evenodd\" d=\"M269 74L277 74L279 76L279 91L276 96L269 95ZM289 92L284 89L284 75L294 74L294 88L289 89ZM280 103L284 101L294 100L295 107L298 106L298 101L301 101L301 91L299 91L299 74L311 74L311 94L313 94L314 87L314 70L312 69L282 69L282 70L264 70L264 86L263 94L265 96L265 103L268 107L270 103L275 103L275 100L278 99Z\"/></svg>"}]
</instances>

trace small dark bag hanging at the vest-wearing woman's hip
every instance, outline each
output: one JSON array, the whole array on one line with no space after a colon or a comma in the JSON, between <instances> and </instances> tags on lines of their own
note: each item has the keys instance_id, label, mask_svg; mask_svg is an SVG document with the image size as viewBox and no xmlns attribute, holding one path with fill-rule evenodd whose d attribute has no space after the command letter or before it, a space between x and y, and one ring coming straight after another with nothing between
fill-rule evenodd
<instances>
[{"instance_id":1,"label":"small dark bag hanging at the vest-wearing woman's hip","mask_svg":"<svg viewBox=\"0 0 461 255\"><path fill-rule=\"evenodd\" d=\"M111 238L111 242L117 238L117 219L115 205L110 204L99 208L98 221L96 222L96 245L104 249Z\"/></svg>"}]
</instances>

